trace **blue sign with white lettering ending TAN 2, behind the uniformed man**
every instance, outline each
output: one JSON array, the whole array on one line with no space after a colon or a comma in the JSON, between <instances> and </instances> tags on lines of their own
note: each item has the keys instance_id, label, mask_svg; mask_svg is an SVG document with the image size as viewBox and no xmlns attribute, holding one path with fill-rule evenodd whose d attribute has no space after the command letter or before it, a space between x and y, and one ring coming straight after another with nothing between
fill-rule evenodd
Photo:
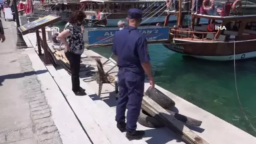
<instances>
[{"instance_id":1,"label":"blue sign with white lettering ending TAN 2, behind the uniformed man","mask_svg":"<svg viewBox=\"0 0 256 144\"><path fill-rule=\"evenodd\" d=\"M168 27L138 28L139 32L145 36L147 41L164 40L169 38ZM88 30L88 43L92 44L110 44L113 42L113 36L119 29L100 29Z\"/></svg>"}]
</instances>

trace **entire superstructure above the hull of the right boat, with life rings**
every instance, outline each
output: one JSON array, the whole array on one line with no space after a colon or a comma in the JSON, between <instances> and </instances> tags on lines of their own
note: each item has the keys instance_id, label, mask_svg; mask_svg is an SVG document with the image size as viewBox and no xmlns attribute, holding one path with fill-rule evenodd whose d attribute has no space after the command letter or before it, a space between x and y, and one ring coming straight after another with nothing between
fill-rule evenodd
<instances>
[{"instance_id":1,"label":"entire superstructure above the hull of the right boat, with life rings","mask_svg":"<svg viewBox=\"0 0 256 144\"><path fill-rule=\"evenodd\" d=\"M243 15L240 0L220 2L222 6L219 8L214 7L214 4L210 4L209 7L204 6L206 5L204 2L207 1L213 2L213 0L203 0L203 7L197 12L167 10L169 15L177 16L177 27L170 30L173 38L223 42L256 39L256 14ZM183 23L185 14L191 16L191 24L186 26Z\"/></svg>"}]
</instances>

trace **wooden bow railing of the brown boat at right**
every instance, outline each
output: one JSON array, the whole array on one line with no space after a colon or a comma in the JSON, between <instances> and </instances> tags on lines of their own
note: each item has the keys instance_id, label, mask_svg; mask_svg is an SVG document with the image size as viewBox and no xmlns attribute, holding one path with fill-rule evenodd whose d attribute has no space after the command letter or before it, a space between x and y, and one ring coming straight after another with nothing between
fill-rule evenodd
<instances>
[{"instance_id":1,"label":"wooden bow railing of the brown boat at right","mask_svg":"<svg viewBox=\"0 0 256 144\"><path fill-rule=\"evenodd\" d=\"M211 39L214 40L217 32L198 32L198 31L189 31L189 30L171 30L174 31L173 34L175 38L191 38L194 39L194 34L202 34L202 40L204 40L208 35L211 35Z\"/></svg>"}]
</instances>

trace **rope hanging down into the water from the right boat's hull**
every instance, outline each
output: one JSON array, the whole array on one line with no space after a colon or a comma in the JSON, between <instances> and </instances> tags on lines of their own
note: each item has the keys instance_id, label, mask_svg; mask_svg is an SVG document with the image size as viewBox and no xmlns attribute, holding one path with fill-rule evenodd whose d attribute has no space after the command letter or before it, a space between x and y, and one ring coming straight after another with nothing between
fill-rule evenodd
<instances>
[{"instance_id":1,"label":"rope hanging down into the water from the right boat's hull","mask_svg":"<svg viewBox=\"0 0 256 144\"><path fill-rule=\"evenodd\" d=\"M243 108L241 100L239 98L237 82L236 82L236 53L235 52L236 52L236 42L234 41L234 77L235 77L236 95L237 95L238 102L240 104L240 108L241 108L242 112L244 113L244 118L248 121L248 123L250 124L250 127L256 132L256 128L254 128L254 126L250 122L247 114L244 112L244 108Z\"/></svg>"}]
</instances>

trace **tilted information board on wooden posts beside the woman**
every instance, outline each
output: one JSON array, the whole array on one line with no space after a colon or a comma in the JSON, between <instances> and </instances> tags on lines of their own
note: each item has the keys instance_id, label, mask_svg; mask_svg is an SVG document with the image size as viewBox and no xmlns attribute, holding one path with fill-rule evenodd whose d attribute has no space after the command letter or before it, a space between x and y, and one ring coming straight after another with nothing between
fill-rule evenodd
<instances>
[{"instance_id":1,"label":"tilted information board on wooden posts beside the woman","mask_svg":"<svg viewBox=\"0 0 256 144\"><path fill-rule=\"evenodd\" d=\"M44 16L43 18L39 18L38 20L35 20L33 22L24 24L23 26L18 27L18 30L20 30L20 32L23 35L25 35L25 34L28 34L29 32L34 32L35 30L39 30L41 28L54 24L60 20L61 20L60 16L50 14L48 16Z\"/></svg>"}]
</instances>

